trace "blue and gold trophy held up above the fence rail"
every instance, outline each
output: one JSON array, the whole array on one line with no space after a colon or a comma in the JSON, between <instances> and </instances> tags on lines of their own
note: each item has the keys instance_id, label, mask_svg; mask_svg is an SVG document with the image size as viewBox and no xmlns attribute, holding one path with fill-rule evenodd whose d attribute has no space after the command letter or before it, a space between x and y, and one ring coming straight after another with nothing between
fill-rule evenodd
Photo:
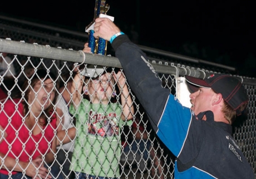
<instances>
[{"instance_id":1,"label":"blue and gold trophy held up above the fence rail","mask_svg":"<svg viewBox=\"0 0 256 179\"><path fill-rule=\"evenodd\" d=\"M93 21L85 28L85 32L88 33L88 47L91 48L91 52L93 54L106 55L107 53L107 40L102 38L94 38L93 27L97 17L107 17L111 19L111 21L114 21L114 17L106 15L107 11L109 11L109 8L109 4L106 4L106 0L96 0Z\"/></svg>"}]
</instances>

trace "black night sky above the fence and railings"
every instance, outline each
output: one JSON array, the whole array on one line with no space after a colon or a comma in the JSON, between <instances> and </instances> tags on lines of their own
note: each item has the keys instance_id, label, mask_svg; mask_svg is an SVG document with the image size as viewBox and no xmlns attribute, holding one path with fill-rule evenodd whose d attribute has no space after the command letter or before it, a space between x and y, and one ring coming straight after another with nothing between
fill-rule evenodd
<instances>
[{"instance_id":1,"label":"black night sky above the fence and railings","mask_svg":"<svg viewBox=\"0 0 256 179\"><path fill-rule=\"evenodd\" d=\"M93 0L54 4L48 0L37 1L35 4L24 1L9 2L1 2L0 14L31 19L78 32L85 32L86 25L92 21L95 6ZM131 24L135 25L141 45L236 68L250 67L240 70L242 75L247 75L248 71L256 68L256 11L253 1L106 2L110 4L107 14L115 17L115 23L122 31L129 33L126 28L130 28ZM189 53L184 50L185 46L190 49L196 47L197 50ZM205 50L208 52L206 56ZM227 56L228 60L223 60Z\"/></svg>"}]
</instances>

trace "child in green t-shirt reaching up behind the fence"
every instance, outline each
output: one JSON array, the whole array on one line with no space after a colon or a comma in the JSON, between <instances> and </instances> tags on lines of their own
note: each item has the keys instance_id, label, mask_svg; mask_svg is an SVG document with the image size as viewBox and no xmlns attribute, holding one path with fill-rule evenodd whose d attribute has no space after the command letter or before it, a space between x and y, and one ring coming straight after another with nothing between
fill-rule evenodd
<instances>
[{"instance_id":1,"label":"child in green t-shirt reaching up behind the fence","mask_svg":"<svg viewBox=\"0 0 256 179\"><path fill-rule=\"evenodd\" d=\"M84 52L90 53L87 46L86 43ZM82 75L88 75L84 71ZM121 105L110 102L116 96L115 81L121 91ZM125 76L119 71L85 77L79 70L71 91L70 112L76 117L77 129L71 170L77 179L119 178L120 130L122 125L132 124L134 113ZM81 99L81 93L88 99Z\"/></svg>"}]
</instances>

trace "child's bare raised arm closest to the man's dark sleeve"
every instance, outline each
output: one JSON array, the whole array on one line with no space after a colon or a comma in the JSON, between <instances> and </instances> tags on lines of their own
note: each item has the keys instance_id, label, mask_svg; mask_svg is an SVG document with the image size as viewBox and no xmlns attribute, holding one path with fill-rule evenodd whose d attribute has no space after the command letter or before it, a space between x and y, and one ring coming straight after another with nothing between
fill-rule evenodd
<instances>
[{"instance_id":1,"label":"child's bare raised arm closest to the man's dark sleeve","mask_svg":"<svg viewBox=\"0 0 256 179\"><path fill-rule=\"evenodd\" d=\"M121 105L122 105L122 120L131 120L132 115L134 114L134 106L132 104L132 99L130 91L126 84L126 79L124 73L119 71L117 74L113 73L113 77L117 83L117 86L120 90L121 96Z\"/></svg>"}]
</instances>

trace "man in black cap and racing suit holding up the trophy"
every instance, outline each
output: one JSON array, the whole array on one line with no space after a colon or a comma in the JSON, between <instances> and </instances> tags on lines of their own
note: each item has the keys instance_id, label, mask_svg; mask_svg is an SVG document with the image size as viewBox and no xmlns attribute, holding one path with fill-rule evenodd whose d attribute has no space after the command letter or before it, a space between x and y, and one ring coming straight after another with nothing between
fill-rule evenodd
<instances>
[{"instance_id":1,"label":"man in black cap and racing suit holding up the trophy","mask_svg":"<svg viewBox=\"0 0 256 179\"><path fill-rule=\"evenodd\" d=\"M185 76L191 108L161 86L146 55L107 18L95 19L94 37L109 40L152 128L176 156L175 178L255 179L232 137L232 124L248 104L240 81L227 74Z\"/></svg>"}]
</instances>

